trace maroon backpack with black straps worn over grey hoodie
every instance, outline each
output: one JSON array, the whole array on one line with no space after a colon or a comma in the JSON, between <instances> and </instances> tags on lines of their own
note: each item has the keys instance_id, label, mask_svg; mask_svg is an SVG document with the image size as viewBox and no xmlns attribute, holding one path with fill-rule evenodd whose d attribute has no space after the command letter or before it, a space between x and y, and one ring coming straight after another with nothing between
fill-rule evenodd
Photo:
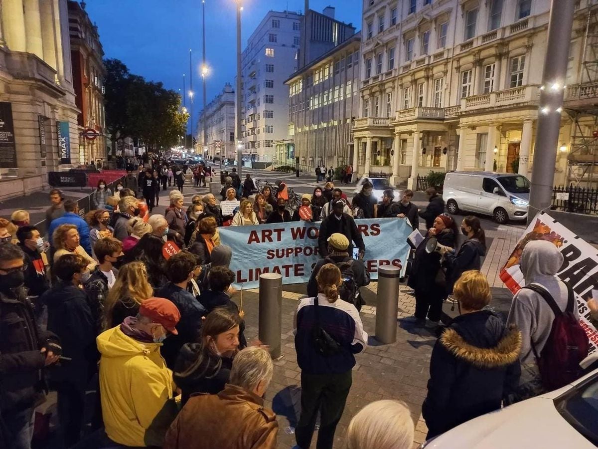
<instances>
[{"instance_id":1,"label":"maroon backpack with black straps worn over grey hoodie","mask_svg":"<svg viewBox=\"0 0 598 449\"><path fill-rule=\"evenodd\" d=\"M579 362L588 355L588 336L573 314L573 307L575 307L573 289L568 284L566 286L569 297L564 312L544 288L535 284L523 287L542 296L554 312L553 327L542 352L538 354L532 345L542 386L548 391L556 390L581 377L582 369Z\"/></svg>"}]
</instances>

